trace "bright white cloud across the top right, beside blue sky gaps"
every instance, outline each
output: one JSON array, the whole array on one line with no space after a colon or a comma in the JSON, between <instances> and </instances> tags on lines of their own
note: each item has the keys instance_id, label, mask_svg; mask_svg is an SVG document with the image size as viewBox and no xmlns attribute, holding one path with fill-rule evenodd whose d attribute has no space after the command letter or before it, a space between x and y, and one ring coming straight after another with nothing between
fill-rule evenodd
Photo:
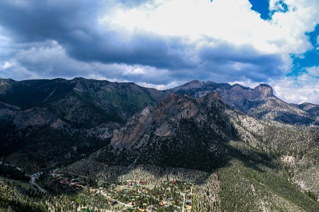
<instances>
[{"instance_id":1,"label":"bright white cloud across the top right, beside blue sky gaps","mask_svg":"<svg viewBox=\"0 0 319 212\"><path fill-rule=\"evenodd\" d=\"M270 1L274 10L270 21L251 10L248 0L152 0L133 8L117 4L99 22L128 34L147 31L178 36L185 43L206 45L214 38L235 45L252 44L265 53L287 55L309 50L312 46L305 32L319 22L319 1L285 0L291 8L286 13L277 11L280 4L276 2Z\"/></svg>"}]
</instances>

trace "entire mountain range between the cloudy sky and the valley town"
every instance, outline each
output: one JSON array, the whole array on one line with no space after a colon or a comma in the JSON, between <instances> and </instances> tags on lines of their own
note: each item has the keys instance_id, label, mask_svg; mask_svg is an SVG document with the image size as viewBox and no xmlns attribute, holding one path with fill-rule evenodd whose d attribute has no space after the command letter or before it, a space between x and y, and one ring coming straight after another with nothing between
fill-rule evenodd
<instances>
[{"instance_id":1,"label":"entire mountain range between the cloudy sky and the valley town","mask_svg":"<svg viewBox=\"0 0 319 212\"><path fill-rule=\"evenodd\" d=\"M98 183L188 182L195 212L318 211L318 108L264 84L0 79L0 157Z\"/></svg>"}]
</instances>

